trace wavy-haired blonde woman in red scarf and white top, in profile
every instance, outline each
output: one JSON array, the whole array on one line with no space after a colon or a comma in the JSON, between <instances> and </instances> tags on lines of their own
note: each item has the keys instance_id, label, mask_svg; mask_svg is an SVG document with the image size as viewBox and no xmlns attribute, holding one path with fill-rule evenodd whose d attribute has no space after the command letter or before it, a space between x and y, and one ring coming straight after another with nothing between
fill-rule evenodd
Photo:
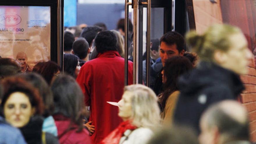
<instances>
[{"instance_id":1,"label":"wavy-haired blonde woman in red scarf and white top, in profile","mask_svg":"<svg viewBox=\"0 0 256 144\"><path fill-rule=\"evenodd\" d=\"M126 86L118 102L118 115L124 120L101 144L144 144L160 123L157 96L150 88L137 84Z\"/></svg>"}]
</instances>

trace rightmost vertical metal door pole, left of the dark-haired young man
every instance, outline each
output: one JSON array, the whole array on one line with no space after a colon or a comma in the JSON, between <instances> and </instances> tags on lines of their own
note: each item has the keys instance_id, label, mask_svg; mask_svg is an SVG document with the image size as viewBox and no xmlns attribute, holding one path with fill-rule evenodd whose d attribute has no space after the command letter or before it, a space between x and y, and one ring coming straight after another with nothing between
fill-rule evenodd
<instances>
[{"instance_id":1,"label":"rightmost vertical metal door pole, left of the dark-haired young man","mask_svg":"<svg viewBox=\"0 0 256 144\"><path fill-rule=\"evenodd\" d=\"M147 0L147 60L146 60L146 86L150 86L150 25L151 24L151 0Z\"/></svg>"}]
</instances>

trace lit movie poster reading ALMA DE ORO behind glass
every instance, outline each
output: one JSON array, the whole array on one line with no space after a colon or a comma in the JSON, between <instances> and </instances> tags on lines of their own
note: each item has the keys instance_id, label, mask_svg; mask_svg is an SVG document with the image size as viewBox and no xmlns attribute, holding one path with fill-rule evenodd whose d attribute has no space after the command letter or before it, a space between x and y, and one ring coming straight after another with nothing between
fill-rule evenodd
<instances>
[{"instance_id":1,"label":"lit movie poster reading ALMA DE ORO behind glass","mask_svg":"<svg viewBox=\"0 0 256 144\"><path fill-rule=\"evenodd\" d=\"M34 66L50 60L49 6L0 6L0 56Z\"/></svg>"}]
</instances>

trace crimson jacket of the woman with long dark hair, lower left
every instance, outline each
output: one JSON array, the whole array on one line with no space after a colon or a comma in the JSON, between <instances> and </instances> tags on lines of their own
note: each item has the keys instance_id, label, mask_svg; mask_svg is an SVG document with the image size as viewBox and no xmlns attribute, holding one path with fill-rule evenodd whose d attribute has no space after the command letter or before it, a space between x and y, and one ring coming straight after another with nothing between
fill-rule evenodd
<instances>
[{"instance_id":1,"label":"crimson jacket of the woman with long dark hair, lower left","mask_svg":"<svg viewBox=\"0 0 256 144\"><path fill-rule=\"evenodd\" d=\"M86 129L82 129L77 133L78 126L73 124L71 129L66 131L70 126L70 119L63 115L53 116L57 130L60 144L91 144L89 132Z\"/></svg>"}]
</instances>

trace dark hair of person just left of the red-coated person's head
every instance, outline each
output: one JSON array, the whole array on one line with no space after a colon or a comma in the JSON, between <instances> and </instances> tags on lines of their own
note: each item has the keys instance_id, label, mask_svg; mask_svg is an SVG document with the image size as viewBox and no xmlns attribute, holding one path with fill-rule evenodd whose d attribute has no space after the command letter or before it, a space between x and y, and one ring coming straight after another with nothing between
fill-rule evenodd
<instances>
[{"instance_id":1,"label":"dark hair of person just left of the red-coated person's head","mask_svg":"<svg viewBox=\"0 0 256 144\"><path fill-rule=\"evenodd\" d=\"M91 46L93 39L100 31L102 31L102 29L98 26L87 26L86 28L83 29L80 37L85 38L89 46Z\"/></svg>"}]
</instances>

